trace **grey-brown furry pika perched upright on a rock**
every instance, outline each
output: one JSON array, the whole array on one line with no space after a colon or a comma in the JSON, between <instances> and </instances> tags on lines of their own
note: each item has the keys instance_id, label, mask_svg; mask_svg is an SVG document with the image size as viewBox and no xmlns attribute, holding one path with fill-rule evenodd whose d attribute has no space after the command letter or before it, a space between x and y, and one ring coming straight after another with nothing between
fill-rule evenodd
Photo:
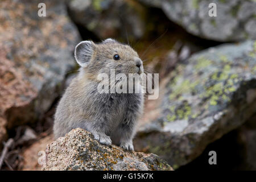
<instances>
[{"instance_id":1,"label":"grey-brown furry pika perched upright on a rock","mask_svg":"<svg viewBox=\"0 0 256 182\"><path fill-rule=\"evenodd\" d=\"M81 68L57 105L53 126L55 138L80 127L90 131L102 144L113 143L125 150L134 150L133 137L143 111L143 92L99 93L97 75L110 76L110 69L127 76L143 73L138 53L114 39L97 44L83 41L75 48L75 59Z\"/></svg>"}]
</instances>

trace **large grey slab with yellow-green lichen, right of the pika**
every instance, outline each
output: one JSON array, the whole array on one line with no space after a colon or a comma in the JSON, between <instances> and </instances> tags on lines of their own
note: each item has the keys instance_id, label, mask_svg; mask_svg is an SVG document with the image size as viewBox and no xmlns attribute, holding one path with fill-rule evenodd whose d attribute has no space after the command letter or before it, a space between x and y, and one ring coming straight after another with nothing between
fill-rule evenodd
<instances>
[{"instance_id":1,"label":"large grey slab with yellow-green lichen, right of the pika","mask_svg":"<svg viewBox=\"0 0 256 182\"><path fill-rule=\"evenodd\" d=\"M255 113L256 42L206 49L172 74L157 119L140 127L134 143L175 169Z\"/></svg>"}]
</instances>

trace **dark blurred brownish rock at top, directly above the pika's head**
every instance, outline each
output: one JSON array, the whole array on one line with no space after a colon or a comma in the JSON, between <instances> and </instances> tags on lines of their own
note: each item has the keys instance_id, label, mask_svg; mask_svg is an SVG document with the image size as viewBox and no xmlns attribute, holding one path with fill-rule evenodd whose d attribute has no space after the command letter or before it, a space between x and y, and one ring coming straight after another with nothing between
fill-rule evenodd
<instances>
[{"instance_id":1,"label":"dark blurred brownish rock at top, directly above the pika's head","mask_svg":"<svg viewBox=\"0 0 256 182\"><path fill-rule=\"evenodd\" d=\"M144 8L136 1L67 1L72 19L98 38L139 39L144 33Z\"/></svg>"}]
</instances>

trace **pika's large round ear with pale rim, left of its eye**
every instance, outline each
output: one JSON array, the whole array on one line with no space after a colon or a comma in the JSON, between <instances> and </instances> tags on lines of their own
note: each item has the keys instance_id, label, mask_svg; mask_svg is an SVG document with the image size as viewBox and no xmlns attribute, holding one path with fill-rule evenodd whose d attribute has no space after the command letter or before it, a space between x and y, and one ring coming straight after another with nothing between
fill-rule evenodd
<instances>
[{"instance_id":1,"label":"pika's large round ear with pale rim, left of its eye","mask_svg":"<svg viewBox=\"0 0 256 182\"><path fill-rule=\"evenodd\" d=\"M75 48L75 59L81 67L86 67L92 59L96 45L92 41L82 41Z\"/></svg>"}]
</instances>

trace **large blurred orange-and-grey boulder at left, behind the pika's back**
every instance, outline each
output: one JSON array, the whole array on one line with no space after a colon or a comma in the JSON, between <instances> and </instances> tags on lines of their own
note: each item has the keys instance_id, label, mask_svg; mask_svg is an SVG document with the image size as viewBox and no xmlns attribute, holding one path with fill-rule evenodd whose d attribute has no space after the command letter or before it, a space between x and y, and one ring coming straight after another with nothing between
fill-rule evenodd
<instances>
[{"instance_id":1,"label":"large blurred orange-and-grey boulder at left, behind the pika's back","mask_svg":"<svg viewBox=\"0 0 256 182\"><path fill-rule=\"evenodd\" d=\"M40 2L0 3L0 143L6 128L33 122L49 109L75 65L80 36L64 3L44 1L47 14L39 17Z\"/></svg>"}]
</instances>

